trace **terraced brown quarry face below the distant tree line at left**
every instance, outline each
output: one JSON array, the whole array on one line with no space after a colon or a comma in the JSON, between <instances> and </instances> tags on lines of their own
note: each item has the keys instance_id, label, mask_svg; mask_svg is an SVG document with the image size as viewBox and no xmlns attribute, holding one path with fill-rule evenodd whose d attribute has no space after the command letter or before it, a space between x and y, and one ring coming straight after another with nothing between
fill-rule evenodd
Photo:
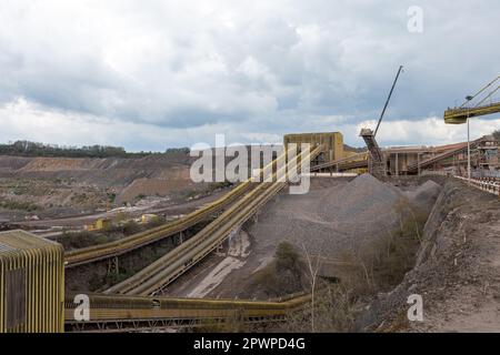
<instances>
[{"instance_id":1,"label":"terraced brown quarry face below the distant tree line at left","mask_svg":"<svg viewBox=\"0 0 500 355\"><path fill-rule=\"evenodd\" d=\"M106 159L0 155L0 202L6 202L0 216L22 220L34 209L63 216L133 202L140 195L170 196L194 189L190 162L186 153Z\"/></svg>"}]
</instances>

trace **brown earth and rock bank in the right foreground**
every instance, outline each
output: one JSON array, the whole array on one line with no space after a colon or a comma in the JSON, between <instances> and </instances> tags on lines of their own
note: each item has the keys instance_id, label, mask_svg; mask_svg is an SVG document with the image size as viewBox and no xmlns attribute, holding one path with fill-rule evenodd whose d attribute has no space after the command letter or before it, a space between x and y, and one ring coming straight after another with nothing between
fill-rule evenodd
<instances>
[{"instance_id":1,"label":"brown earth and rock bank in the right foreground","mask_svg":"<svg viewBox=\"0 0 500 355\"><path fill-rule=\"evenodd\" d=\"M430 186L430 184L428 184ZM500 201L449 180L426 223L417 263L359 320L382 332L500 331ZM423 301L423 322L408 322L408 296Z\"/></svg>"}]
</instances>

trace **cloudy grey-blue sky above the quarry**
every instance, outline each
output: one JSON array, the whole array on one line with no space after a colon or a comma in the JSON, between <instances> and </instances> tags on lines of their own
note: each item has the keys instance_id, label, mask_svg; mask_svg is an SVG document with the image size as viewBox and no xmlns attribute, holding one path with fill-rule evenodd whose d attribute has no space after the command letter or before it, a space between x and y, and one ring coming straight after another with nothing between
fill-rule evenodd
<instances>
[{"instance_id":1,"label":"cloudy grey-blue sky above the quarry","mask_svg":"<svg viewBox=\"0 0 500 355\"><path fill-rule=\"evenodd\" d=\"M381 144L461 141L442 112L500 74L499 13L498 0L2 0L0 142L162 151L341 131L360 146L399 64ZM472 136L499 128L471 122Z\"/></svg>"}]
</instances>

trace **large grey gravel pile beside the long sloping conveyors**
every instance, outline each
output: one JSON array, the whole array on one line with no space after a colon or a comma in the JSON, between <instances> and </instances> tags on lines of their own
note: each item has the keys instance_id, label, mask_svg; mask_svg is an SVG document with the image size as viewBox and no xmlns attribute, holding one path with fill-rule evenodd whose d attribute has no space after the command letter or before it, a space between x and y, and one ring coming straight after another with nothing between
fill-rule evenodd
<instances>
[{"instance_id":1,"label":"large grey gravel pile beside the long sloping conveyors","mask_svg":"<svg viewBox=\"0 0 500 355\"><path fill-rule=\"evenodd\" d=\"M388 233L394 221L392 206L401 196L397 187L363 174L306 195L280 196L250 233L262 252L272 254L286 240L309 253L339 258L346 250Z\"/></svg>"}]
</instances>

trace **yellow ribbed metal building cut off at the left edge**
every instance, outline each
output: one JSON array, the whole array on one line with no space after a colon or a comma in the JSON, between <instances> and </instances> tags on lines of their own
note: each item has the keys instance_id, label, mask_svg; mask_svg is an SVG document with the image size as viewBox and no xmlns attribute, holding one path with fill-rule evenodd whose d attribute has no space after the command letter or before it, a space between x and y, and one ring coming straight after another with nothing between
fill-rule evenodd
<instances>
[{"instance_id":1,"label":"yellow ribbed metal building cut off at the left edge","mask_svg":"<svg viewBox=\"0 0 500 355\"><path fill-rule=\"evenodd\" d=\"M0 333L62 332L62 246L24 231L1 232L0 291Z\"/></svg>"}]
</instances>

